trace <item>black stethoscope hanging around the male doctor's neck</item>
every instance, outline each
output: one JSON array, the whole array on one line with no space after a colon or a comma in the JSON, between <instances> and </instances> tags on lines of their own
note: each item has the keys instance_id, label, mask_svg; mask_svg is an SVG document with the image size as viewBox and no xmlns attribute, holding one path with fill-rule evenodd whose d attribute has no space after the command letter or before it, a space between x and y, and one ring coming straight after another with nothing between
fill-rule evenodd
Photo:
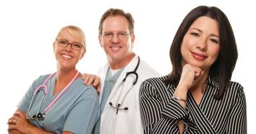
<instances>
[{"instance_id":1,"label":"black stethoscope hanging around the male doctor's neck","mask_svg":"<svg viewBox=\"0 0 256 134\"><path fill-rule=\"evenodd\" d=\"M126 94L124 95L124 98L126 98L127 94L130 92L130 90L132 90L133 86L137 83L138 74L137 74L136 71L137 71L139 65L140 65L140 57L138 57L138 63L137 63L137 65L136 65L136 67L134 68L134 70L131 71L131 72L126 72L126 76L124 77L124 79L122 80L122 82L120 83L120 85L118 86L118 88L120 88L120 86L122 85L122 92L123 92L123 90L124 90L124 85L123 85L123 84L124 84L124 82L126 81L126 78L127 78L128 76L130 76L130 75L134 75L134 76L135 76L135 78L134 78L134 80L133 80L133 82L132 82L132 86L130 86L129 90L128 90L128 91L126 92ZM121 92L120 95L118 96L118 100L120 99L120 96L121 96L122 92ZM119 110L128 111L128 107L122 107L122 108L121 108L122 104L124 103L124 98L123 98L123 100L122 100L122 103L116 103L116 107L113 105L112 102L110 102L110 106L111 106L112 108L116 109L116 115L118 115L118 111L119 111ZM117 102L118 102L118 101L117 101Z\"/></svg>"}]
</instances>

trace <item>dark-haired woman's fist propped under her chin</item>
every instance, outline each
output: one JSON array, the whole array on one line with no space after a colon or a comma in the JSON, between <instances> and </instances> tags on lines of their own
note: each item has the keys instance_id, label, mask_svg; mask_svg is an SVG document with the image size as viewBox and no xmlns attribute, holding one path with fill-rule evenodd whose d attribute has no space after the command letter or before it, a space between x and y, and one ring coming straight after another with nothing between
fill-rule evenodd
<instances>
[{"instance_id":1,"label":"dark-haired woman's fist propped under her chin","mask_svg":"<svg viewBox=\"0 0 256 134\"><path fill-rule=\"evenodd\" d=\"M178 86L182 86L188 92L188 90L200 80L202 75L204 74L204 70L198 68L197 66L193 66L191 64L185 64L183 66L181 78L179 80Z\"/></svg>"}]
</instances>

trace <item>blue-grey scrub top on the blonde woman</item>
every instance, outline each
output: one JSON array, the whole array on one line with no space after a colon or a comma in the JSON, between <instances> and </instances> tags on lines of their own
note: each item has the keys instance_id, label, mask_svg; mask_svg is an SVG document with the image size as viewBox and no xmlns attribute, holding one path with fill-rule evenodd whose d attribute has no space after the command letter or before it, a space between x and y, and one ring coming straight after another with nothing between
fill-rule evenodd
<instances>
[{"instance_id":1,"label":"blue-grey scrub top on the blonde woman","mask_svg":"<svg viewBox=\"0 0 256 134\"><path fill-rule=\"evenodd\" d=\"M49 76L40 76L32 83L25 96L20 100L17 108L27 113L30 106L34 90L40 86ZM60 92L53 94L56 76L52 76L46 82L48 94L46 94L40 113L48 107ZM43 95L40 90L35 98L29 116L36 115ZM62 133L70 131L72 133L92 133L97 119L99 119L99 99L93 86L85 86L81 78L77 78L67 90L60 96L54 105L46 112L44 120L31 120L32 125L52 133Z\"/></svg>"}]
</instances>

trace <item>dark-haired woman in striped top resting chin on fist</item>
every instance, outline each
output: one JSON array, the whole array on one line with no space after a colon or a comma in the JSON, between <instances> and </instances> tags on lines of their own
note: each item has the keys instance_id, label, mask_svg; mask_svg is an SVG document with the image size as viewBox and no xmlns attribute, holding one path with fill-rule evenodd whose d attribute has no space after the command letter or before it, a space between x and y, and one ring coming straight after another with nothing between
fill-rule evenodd
<instances>
[{"instance_id":1,"label":"dark-haired woman in striped top resting chin on fist","mask_svg":"<svg viewBox=\"0 0 256 134\"><path fill-rule=\"evenodd\" d=\"M171 74L140 86L144 133L247 133L243 86L230 81L237 45L220 9L191 10L177 30L170 58Z\"/></svg>"}]
</instances>

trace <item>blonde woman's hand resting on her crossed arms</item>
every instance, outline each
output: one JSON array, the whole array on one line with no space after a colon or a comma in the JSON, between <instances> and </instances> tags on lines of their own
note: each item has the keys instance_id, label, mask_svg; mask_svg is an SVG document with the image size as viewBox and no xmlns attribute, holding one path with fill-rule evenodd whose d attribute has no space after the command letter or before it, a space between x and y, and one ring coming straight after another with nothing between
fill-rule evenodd
<instances>
[{"instance_id":1,"label":"blonde woman's hand resting on her crossed arms","mask_svg":"<svg viewBox=\"0 0 256 134\"><path fill-rule=\"evenodd\" d=\"M26 133L26 131L30 129L30 127L32 126L28 121L28 119L26 119L25 113L22 113L21 111L16 111L13 114L13 117L11 117L8 120L7 124L9 125L8 126L9 132L17 130L20 133Z\"/></svg>"}]
</instances>

